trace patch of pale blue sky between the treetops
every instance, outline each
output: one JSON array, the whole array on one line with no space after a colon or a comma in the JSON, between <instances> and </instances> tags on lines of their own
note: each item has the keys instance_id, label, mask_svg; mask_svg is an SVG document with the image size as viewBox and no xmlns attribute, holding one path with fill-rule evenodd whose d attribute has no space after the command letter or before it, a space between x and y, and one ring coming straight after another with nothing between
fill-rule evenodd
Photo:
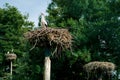
<instances>
[{"instance_id":1,"label":"patch of pale blue sky between the treetops","mask_svg":"<svg viewBox=\"0 0 120 80\"><path fill-rule=\"evenodd\" d=\"M0 0L0 7L5 3L15 6L23 15L29 14L29 20L33 21L35 27L38 26L38 17L41 13L47 15L46 9L51 0Z\"/></svg>"}]
</instances>

